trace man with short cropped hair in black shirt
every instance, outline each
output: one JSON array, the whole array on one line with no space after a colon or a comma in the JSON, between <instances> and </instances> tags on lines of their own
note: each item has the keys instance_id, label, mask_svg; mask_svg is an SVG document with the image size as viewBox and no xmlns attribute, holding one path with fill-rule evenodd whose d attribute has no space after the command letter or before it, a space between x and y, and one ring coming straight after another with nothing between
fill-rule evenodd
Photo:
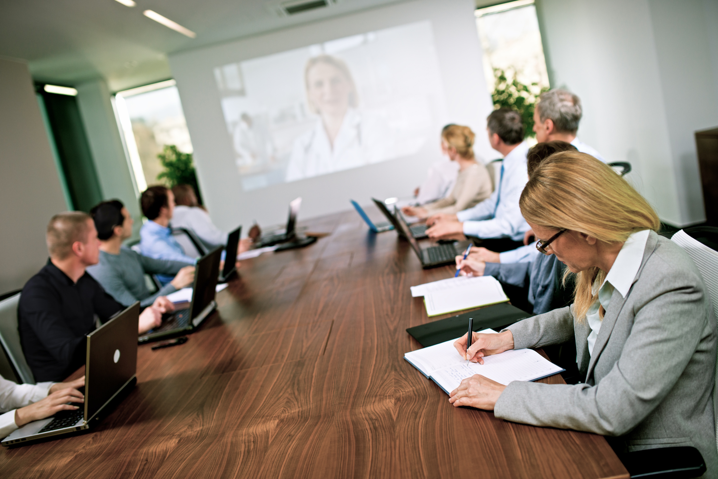
<instances>
[{"instance_id":1,"label":"man with short cropped hair in black shirt","mask_svg":"<svg viewBox=\"0 0 718 479\"><path fill-rule=\"evenodd\" d=\"M92 218L70 211L47 225L50 260L22 289L18 323L25 359L36 381L62 381L85 363L85 335L95 329L95 315L109 320L123 306L85 272L98 262L100 241ZM138 332L162 324L172 310L158 299L139 317Z\"/></svg>"}]
</instances>

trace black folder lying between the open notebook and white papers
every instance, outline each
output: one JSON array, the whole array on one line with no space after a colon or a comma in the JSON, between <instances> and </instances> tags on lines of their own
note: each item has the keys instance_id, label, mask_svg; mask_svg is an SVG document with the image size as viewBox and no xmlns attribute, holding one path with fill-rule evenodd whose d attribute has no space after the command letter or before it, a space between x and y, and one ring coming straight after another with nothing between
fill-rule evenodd
<instances>
[{"instance_id":1,"label":"black folder lying between the open notebook and white papers","mask_svg":"<svg viewBox=\"0 0 718 479\"><path fill-rule=\"evenodd\" d=\"M433 346L465 335L470 317L473 318L472 330L474 331L485 330L489 327L500 331L503 327L513 325L514 322L531 316L533 315L519 310L518 307L500 303L443 320L427 322L425 325L407 327L406 332L426 348L426 346Z\"/></svg>"}]
</instances>

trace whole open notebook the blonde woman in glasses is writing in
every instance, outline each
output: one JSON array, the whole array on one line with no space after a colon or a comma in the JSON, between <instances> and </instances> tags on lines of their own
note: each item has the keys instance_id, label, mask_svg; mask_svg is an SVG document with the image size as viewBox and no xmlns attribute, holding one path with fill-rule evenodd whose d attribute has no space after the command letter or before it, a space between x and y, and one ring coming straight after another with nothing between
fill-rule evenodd
<instances>
[{"instance_id":1,"label":"whole open notebook the blonde woman in glasses is writing in","mask_svg":"<svg viewBox=\"0 0 718 479\"><path fill-rule=\"evenodd\" d=\"M494 330L479 332L495 333ZM404 359L431 379L446 394L459 387L462 380L475 374L497 383L536 381L566 371L531 349L512 349L484 356L484 363L467 363L454 348L455 339L404 354Z\"/></svg>"}]
</instances>

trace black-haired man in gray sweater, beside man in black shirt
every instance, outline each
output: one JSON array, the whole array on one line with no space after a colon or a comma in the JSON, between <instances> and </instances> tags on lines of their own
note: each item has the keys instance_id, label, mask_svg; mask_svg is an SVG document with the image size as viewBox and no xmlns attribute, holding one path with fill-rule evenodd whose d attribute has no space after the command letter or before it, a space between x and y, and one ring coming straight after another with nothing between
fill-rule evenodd
<instances>
[{"instance_id":1,"label":"black-haired man in gray sweater, beside man in black shirt","mask_svg":"<svg viewBox=\"0 0 718 479\"><path fill-rule=\"evenodd\" d=\"M103 201L90 212L100 238L100 262L87 271L119 303L129 306L139 301L147 307L159 296L191 286L195 266L182 261L153 259L132 251L122 242L132 236L134 220L119 200ZM175 275L171 282L151 294L144 274Z\"/></svg>"}]
</instances>

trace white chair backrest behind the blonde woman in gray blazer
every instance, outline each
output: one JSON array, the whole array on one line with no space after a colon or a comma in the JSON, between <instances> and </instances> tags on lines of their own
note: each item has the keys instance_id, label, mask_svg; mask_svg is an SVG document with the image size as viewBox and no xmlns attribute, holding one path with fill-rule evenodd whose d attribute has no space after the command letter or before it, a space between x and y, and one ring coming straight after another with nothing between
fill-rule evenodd
<instances>
[{"instance_id":1,"label":"white chair backrest behind the blonde woman in gray blazer","mask_svg":"<svg viewBox=\"0 0 718 479\"><path fill-rule=\"evenodd\" d=\"M700 238L701 241L696 238ZM718 228L686 228L686 230L674 234L671 239L686 250L701 271L713 304L713 316L718 321L718 251L714 247L708 246L718 243ZM718 359L713 386L713 411L716 420L716 447L718 448Z\"/></svg>"}]
</instances>

